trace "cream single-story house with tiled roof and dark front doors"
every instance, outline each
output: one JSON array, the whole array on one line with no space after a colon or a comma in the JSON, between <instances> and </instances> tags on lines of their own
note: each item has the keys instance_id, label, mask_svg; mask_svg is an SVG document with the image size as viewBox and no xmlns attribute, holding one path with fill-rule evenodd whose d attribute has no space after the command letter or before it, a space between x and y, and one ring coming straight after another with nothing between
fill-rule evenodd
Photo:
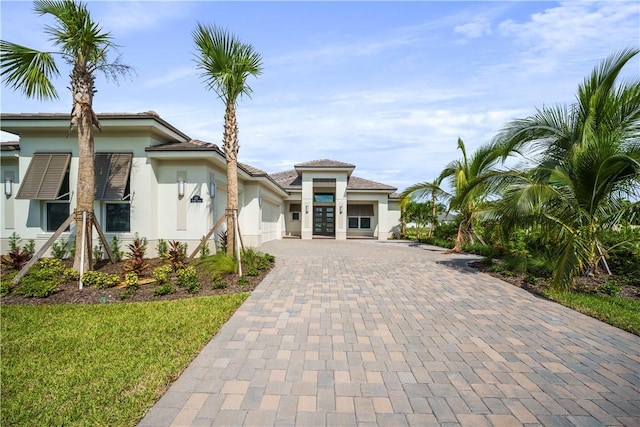
<instances>
[{"instance_id":1,"label":"cream single-story house with tiled roof and dark front doors","mask_svg":"<svg viewBox=\"0 0 640 427\"><path fill-rule=\"evenodd\" d=\"M134 234L195 248L226 209L226 160L155 112L101 114L95 132L94 214L123 244ZM75 207L78 141L67 114L1 114L19 142L1 145L1 250L16 232L43 245ZM287 237L386 240L397 233L395 188L358 178L355 165L315 160L268 174L238 165L238 224L245 246ZM73 225L72 225L73 227ZM215 235L214 235L215 236ZM62 238L69 238L70 231ZM95 236L94 236L95 237ZM213 238L212 238L213 239Z\"/></svg>"}]
</instances>

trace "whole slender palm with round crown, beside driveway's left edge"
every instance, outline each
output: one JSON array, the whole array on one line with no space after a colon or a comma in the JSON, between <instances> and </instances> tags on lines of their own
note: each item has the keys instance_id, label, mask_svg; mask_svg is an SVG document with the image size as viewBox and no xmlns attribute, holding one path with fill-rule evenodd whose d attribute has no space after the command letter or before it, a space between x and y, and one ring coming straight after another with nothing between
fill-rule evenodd
<instances>
[{"instance_id":1,"label":"whole slender palm with round crown, beside driveway's left edge","mask_svg":"<svg viewBox=\"0 0 640 427\"><path fill-rule=\"evenodd\" d=\"M253 46L228 31L198 24L193 32L197 68L205 84L225 103L223 148L227 160L227 254L235 255L235 215L238 211L238 122L236 103L250 96L249 76L262 74L262 58Z\"/></svg>"}]
</instances>

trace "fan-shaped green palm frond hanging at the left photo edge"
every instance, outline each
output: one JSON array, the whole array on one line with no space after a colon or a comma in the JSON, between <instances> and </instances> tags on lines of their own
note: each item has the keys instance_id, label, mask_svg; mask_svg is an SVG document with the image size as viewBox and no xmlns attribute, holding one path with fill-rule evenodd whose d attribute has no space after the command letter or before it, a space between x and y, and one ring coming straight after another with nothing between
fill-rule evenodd
<instances>
[{"instance_id":1,"label":"fan-shaped green palm frond hanging at the left photo edge","mask_svg":"<svg viewBox=\"0 0 640 427\"><path fill-rule=\"evenodd\" d=\"M7 85L27 97L57 99L51 80L60 75L49 52L0 41L0 75Z\"/></svg>"}]
</instances>

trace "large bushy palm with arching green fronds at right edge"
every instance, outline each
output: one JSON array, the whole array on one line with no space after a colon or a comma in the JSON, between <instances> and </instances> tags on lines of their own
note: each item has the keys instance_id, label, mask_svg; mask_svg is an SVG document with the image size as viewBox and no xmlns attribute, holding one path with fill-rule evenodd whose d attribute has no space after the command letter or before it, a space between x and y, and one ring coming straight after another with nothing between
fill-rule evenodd
<instances>
[{"instance_id":1,"label":"large bushy palm with arching green fronds at right edge","mask_svg":"<svg viewBox=\"0 0 640 427\"><path fill-rule=\"evenodd\" d=\"M509 123L505 150L528 152L535 166L513 174L494 211L506 228L542 227L557 244L553 282L571 287L606 263L601 235L633 209L640 184L640 82L616 87L638 49L603 61L570 106L544 107Z\"/></svg>"}]
</instances>

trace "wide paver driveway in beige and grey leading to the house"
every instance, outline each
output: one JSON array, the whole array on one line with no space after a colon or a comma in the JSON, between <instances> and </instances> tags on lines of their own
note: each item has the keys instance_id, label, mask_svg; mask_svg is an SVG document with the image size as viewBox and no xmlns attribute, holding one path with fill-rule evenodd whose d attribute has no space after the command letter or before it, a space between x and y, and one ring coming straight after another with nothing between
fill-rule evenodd
<instances>
[{"instance_id":1,"label":"wide paver driveway in beige and grey leading to the house","mask_svg":"<svg viewBox=\"0 0 640 427\"><path fill-rule=\"evenodd\" d=\"M407 242L281 240L140 426L640 426L640 338Z\"/></svg>"}]
</instances>

